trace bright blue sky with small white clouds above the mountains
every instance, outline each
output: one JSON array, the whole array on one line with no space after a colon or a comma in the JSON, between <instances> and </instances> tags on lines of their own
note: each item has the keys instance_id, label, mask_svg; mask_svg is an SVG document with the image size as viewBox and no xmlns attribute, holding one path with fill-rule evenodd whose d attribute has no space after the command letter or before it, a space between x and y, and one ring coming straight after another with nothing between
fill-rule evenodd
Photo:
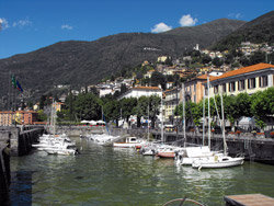
<instances>
[{"instance_id":1,"label":"bright blue sky with small white clouds above the mountains","mask_svg":"<svg viewBox=\"0 0 274 206\"><path fill-rule=\"evenodd\" d=\"M64 41L252 21L273 9L273 0L0 0L0 59Z\"/></svg>"}]
</instances>

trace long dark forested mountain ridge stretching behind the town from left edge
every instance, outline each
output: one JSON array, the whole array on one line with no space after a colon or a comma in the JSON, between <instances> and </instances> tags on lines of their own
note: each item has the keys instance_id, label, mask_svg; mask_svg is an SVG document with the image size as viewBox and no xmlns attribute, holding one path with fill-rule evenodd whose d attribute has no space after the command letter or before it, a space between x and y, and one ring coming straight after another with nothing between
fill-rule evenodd
<instances>
[{"instance_id":1,"label":"long dark forested mountain ridge stretching behind the town from left edge","mask_svg":"<svg viewBox=\"0 0 274 206\"><path fill-rule=\"evenodd\" d=\"M122 33L93 42L59 42L27 54L0 59L0 94L8 93L9 71L24 89L39 98L55 84L84 85L99 82L122 68L155 62L160 55L181 57L185 49L212 45L246 22L216 20L165 33Z\"/></svg>"}]
</instances>

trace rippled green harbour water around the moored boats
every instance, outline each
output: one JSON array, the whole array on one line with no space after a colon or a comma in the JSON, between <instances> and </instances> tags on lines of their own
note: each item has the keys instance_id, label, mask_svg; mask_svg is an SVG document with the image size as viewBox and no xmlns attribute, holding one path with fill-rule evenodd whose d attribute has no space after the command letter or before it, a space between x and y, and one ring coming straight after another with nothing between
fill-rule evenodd
<instances>
[{"instance_id":1,"label":"rippled green harbour water around the moored boats","mask_svg":"<svg viewBox=\"0 0 274 206\"><path fill-rule=\"evenodd\" d=\"M76 157L35 151L11 158L12 205L155 206L186 196L218 206L225 205L226 195L274 197L273 165L246 161L241 167L198 171L134 149L76 140L82 148Z\"/></svg>"}]
</instances>

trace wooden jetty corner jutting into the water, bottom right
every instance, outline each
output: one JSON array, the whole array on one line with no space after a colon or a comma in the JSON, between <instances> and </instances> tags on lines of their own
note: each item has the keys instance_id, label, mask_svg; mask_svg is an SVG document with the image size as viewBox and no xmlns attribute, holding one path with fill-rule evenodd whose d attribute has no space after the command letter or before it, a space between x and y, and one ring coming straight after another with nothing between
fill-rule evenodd
<instances>
[{"instance_id":1,"label":"wooden jetty corner jutting into the water, bottom right","mask_svg":"<svg viewBox=\"0 0 274 206\"><path fill-rule=\"evenodd\" d=\"M226 206L273 206L274 198L262 194L231 195L224 197Z\"/></svg>"}]
</instances>

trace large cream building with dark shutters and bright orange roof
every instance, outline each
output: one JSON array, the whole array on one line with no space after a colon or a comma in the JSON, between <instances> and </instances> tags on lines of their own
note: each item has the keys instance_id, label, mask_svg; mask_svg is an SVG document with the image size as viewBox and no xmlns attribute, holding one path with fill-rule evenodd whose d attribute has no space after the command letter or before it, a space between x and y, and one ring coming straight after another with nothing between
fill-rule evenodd
<instances>
[{"instance_id":1,"label":"large cream building with dark shutters and bright orange roof","mask_svg":"<svg viewBox=\"0 0 274 206\"><path fill-rule=\"evenodd\" d=\"M228 95L253 94L274 85L274 65L258 64L210 79L210 95L221 91Z\"/></svg>"}]
</instances>

